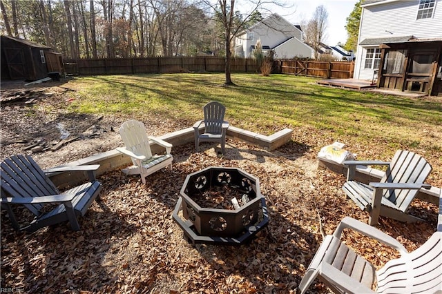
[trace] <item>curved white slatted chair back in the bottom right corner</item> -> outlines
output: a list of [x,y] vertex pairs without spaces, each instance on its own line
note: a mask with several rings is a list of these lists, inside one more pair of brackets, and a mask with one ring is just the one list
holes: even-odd
[[421,247],[390,260],[377,272],[378,293],[437,293],[442,289],[442,232]]

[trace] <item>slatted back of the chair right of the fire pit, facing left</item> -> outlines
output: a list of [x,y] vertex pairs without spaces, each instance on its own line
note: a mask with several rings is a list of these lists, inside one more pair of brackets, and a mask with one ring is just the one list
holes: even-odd
[[[381,183],[423,184],[432,166],[421,155],[406,150],[398,150],[387,168]],[[383,197],[405,211],[419,190],[385,190]]]

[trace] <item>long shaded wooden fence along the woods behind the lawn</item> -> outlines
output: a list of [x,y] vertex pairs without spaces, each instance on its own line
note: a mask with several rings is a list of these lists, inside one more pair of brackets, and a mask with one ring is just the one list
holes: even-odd
[[[119,75],[165,72],[224,72],[224,57],[148,57],[64,59],[71,75]],[[231,59],[232,72],[257,72],[254,59]]]

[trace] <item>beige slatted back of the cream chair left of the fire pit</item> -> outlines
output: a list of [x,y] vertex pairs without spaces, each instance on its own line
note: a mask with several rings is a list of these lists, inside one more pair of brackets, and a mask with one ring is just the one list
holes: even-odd
[[[144,155],[146,159],[152,157],[151,145],[146,133],[146,127],[141,121],[133,119],[125,121],[119,128],[119,135],[124,141],[124,145],[137,155]],[[135,161],[132,159],[133,164]]]

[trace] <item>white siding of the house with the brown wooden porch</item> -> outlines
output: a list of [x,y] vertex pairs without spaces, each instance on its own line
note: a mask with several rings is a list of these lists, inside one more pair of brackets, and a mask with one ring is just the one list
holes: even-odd
[[[442,0],[437,0],[433,17],[416,19],[419,0],[390,1],[363,6],[358,43],[365,39],[382,37],[414,36],[418,39],[442,37]],[[372,79],[374,70],[365,70],[367,48],[377,48],[379,44],[358,46],[354,70],[355,79]]]

